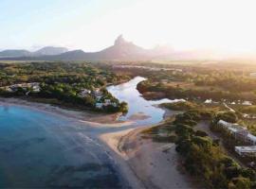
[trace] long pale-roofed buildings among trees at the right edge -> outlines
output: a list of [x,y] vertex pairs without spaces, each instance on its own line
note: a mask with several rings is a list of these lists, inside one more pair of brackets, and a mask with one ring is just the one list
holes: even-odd
[[223,120],[219,120],[217,125],[229,131],[235,138],[247,144],[248,146],[235,146],[235,151],[241,156],[255,156],[256,155],[256,136],[251,134],[247,128],[232,124]]

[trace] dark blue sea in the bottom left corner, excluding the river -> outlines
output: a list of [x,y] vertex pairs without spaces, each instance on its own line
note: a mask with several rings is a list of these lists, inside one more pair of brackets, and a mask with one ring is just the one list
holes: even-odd
[[0,187],[119,187],[89,129],[45,112],[0,106]]

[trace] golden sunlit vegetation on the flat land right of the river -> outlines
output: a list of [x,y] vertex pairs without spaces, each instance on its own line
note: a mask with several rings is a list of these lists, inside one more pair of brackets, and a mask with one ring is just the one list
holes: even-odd
[[[215,101],[249,100],[256,102],[256,79],[250,71],[217,69],[200,66],[173,66],[172,70],[133,70],[140,76],[148,77],[137,86],[140,93],[162,93],[169,98],[188,98],[192,100],[212,99]],[[255,69],[255,68],[254,68]],[[127,72],[132,72],[131,68]],[[157,96],[157,95],[155,95]],[[152,97],[152,95],[151,95]]]

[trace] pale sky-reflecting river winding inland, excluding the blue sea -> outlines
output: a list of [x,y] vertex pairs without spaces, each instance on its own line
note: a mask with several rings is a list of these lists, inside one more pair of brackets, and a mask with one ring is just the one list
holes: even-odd
[[[137,119],[136,125],[153,125],[159,123],[163,119],[164,110],[157,108],[155,105],[166,103],[166,102],[175,102],[182,99],[161,99],[161,100],[146,100],[141,94],[137,91],[137,83],[146,80],[144,77],[135,77],[130,81],[117,85],[108,87],[108,91],[117,97],[120,101],[125,101],[128,103],[129,111],[121,116],[120,120],[130,120],[131,116],[137,114],[143,114],[144,119]],[[133,119],[134,120],[134,119]]]

